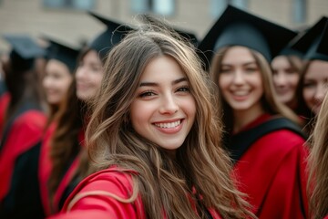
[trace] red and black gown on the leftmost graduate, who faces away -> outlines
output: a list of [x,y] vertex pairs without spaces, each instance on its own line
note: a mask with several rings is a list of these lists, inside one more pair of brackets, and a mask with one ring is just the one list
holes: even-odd
[[[46,124],[46,115],[39,110],[26,110],[11,124],[0,151],[1,215],[24,214],[40,204],[37,183],[37,157]],[[27,187],[27,188],[26,188]],[[35,217],[36,218],[36,217]]]

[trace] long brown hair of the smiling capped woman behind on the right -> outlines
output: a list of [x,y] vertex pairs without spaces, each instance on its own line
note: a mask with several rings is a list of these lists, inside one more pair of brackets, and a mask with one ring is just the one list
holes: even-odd
[[[215,57],[211,62],[210,75],[217,88],[220,88],[219,77],[221,72],[222,59],[231,47],[233,46],[220,48],[220,50],[216,53]],[[258,68],[260,68],[261,72],[261,79],[264,90],[263,95],[261,97],[261,105],[263,110],[272,115],[282,115],[283,117],[288,118],[301,126],[301,120],[298,118],[298,116],[276,98],[272,82],[272,69],[269,62],[261,55],[261,53],[252,50],[251,48],[249,48],[249,50],[251,52],[251,56],[254,57],[255,62]],[[230,132],[233,126],[231,106],[229,106],[227,101],[223,99],[220,95],[218,97],[224,114],[224,117],[222,119],[223,123],[226,127],[226,130]]]

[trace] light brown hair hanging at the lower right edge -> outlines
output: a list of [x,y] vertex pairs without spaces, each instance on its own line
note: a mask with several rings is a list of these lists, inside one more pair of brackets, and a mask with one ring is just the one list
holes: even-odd
[[323,100],[313,133],[309,155],[308,193],[311,218],[321,219],[328,215],[328,95]]

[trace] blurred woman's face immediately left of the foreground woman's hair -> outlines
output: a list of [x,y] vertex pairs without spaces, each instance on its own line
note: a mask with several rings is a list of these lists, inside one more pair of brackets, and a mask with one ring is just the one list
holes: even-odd
[[95,50],[90,50],[82,58],[77,68],[77,98],[88,100],[95,97],[103,78],[102,63]]

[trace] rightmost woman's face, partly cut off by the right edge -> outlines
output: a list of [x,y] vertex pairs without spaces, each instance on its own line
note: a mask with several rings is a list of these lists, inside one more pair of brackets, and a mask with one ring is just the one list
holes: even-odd
[[328,91],[328,62],[313,60],[304,75],[302,95],[307,107],[318,114]]

